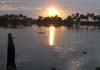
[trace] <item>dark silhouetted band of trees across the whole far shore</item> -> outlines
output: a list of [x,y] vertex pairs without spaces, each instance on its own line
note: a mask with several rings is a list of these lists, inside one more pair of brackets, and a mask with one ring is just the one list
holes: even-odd
[[80,14],[75,13],[69,15],[65,19],[62,19],[59,16],[54,17],[42,17],[39,16],[37,19],[33,19],[27,17],[22,14],[5,14],[0,16],[0,26],[1,27],[16,27],[19,25],[23,26],[31,26],[31,25],[38,25],[38,26],[67,26],[79,28],[79,26],[96,26],[100,29],[100,15],[95,15],[94,13],[87,13],[87,14]]

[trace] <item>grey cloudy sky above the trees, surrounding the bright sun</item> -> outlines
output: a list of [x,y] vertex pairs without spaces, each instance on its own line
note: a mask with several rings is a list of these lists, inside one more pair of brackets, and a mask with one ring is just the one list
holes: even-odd
[[32,18],[47,16],[47,8],[55,7],[62,18],[72,13],[100,13],[100,0],[0,0],[0,14],[25,14]]

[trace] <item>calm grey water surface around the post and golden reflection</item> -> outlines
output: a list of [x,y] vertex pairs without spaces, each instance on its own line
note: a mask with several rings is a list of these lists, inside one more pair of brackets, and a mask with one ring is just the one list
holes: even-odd
[[56,28],[51,46],[50,28],[32,26],[0,28],[0,70],[6,70],[9,32],[14,37],[17,70],[51,70],[52,67],[57,70],[95,70],[100,66],[99,30]]

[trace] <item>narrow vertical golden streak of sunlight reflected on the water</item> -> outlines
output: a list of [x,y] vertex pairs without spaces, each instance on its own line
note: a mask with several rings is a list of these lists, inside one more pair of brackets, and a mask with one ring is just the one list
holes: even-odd
[[50,26],[50,28],[49,28],[49,45],[50,46],[54,46],[55,30],[56,30],[56,28],[54,26]]

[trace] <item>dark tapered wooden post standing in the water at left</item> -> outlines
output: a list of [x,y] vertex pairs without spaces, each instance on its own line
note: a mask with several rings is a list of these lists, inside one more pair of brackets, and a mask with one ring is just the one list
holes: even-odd
[[11,33],[8,33],[7,70],[16,70],[15,46],[14,46],[14,43],[13,43]]

